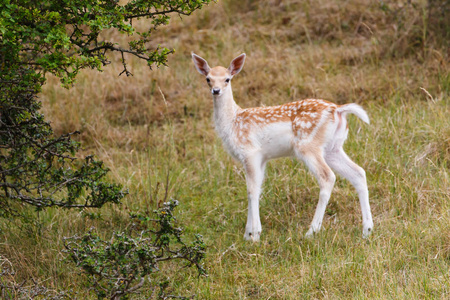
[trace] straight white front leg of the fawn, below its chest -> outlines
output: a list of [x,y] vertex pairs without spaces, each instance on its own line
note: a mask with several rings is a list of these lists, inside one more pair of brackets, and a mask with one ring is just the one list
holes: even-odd
[[244,163],[247,181],[248,215],[244,238],[259,241],[261,220],[259,218],[259,197],[264,180],[265,161],[260,155],[253,155]]

